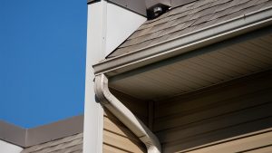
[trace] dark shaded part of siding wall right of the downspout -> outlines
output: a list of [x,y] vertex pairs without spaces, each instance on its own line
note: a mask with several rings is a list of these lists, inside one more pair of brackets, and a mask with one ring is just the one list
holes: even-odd
[[262,72],[160,100],[154,106],[153,130],[163,152],[170,153],[268,129],[271,95],[272,72]]

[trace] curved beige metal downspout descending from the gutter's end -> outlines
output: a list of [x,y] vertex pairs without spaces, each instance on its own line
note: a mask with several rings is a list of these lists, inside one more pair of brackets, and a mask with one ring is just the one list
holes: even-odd
[[159,139],[109,90],[104,74],[95,76],[94,91],[102,106],[107,108],[145,144],[148,153],[161,153]]

